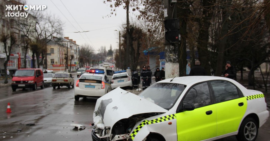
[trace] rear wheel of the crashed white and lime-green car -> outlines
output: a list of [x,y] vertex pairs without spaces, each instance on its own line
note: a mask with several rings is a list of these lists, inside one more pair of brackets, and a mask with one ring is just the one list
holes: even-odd
[[251,117],[244,119],[244,121],[241,123],[238,134],[236,135],[236,139],[238,141],[255,141],[257,136],[257,122]]

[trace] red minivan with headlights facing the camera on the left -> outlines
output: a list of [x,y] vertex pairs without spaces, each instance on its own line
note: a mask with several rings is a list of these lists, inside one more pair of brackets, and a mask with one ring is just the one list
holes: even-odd
[[16,91],[17,88],[32,88],[36,90],[38,87],[43,89],[43,72],[40,68],[22,68],[16,70],[11,88]]

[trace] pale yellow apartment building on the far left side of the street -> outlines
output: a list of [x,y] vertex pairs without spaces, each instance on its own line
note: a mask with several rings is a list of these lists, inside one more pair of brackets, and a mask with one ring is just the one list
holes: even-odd
[[[71,72],[76,71],[79,64],[79,45],[76,44],[76,41],[69,39],[69,37],[54,38],[54,40],[47,44],[48,70],[53,70],[54,72],[64,71],[66,67],[66,53],[68,55],[68,70],[70,69],[71,61]],[[74,56],[72,60],[70,60],[71,55]]]

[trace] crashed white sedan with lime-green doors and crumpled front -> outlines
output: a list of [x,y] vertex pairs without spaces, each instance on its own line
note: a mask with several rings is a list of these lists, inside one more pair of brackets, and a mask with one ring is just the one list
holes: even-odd
[[92,139],[189,141],[236,135],[254,141],[268,116],[260,91],[224,77],[177,77],[140,95],[116,88],[99,98]]

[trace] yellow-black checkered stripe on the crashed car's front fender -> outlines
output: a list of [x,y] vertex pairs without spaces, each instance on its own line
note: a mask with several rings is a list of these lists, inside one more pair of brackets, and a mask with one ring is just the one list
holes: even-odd
[[132,140],[134,140],[135,136],[143,128],[144,125],[150,125],[150,124],[154,124],[154,123],[165,122],[165,121],[172,120],[172,119],[176,119],[176,116],[174,114],[168,115],[168,116],[163,116],[163,117],[160,117],[158,119],[153,119],[153,120],[150,120],[150,121],[144,120],[137,128],[134,129],[134,131],[130,134],[129,137]]

